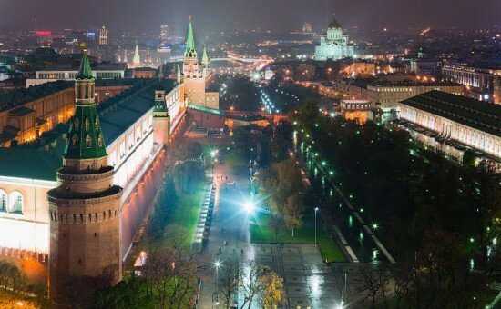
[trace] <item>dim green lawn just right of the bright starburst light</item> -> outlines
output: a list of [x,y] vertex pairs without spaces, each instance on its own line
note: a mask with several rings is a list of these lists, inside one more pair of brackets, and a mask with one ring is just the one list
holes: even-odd
[[[317,218],[318,219],[318,218]],[[275,239],[275,233],[268,227],[268,214],[261,214],[258,217],[259,224],[251,225],[251,240],[256,244],[285,243],[285,244],[314,244],[315,243],[315,218],[313,215],[304,216],[302,228],[294,231],[294,237],[291,231],[285,226],[281,228],[278,238]],[[317,222],[317,243],[324,259],[331,262],[346,262],[344,254],[338,244],[325,234],[320,220]]]

